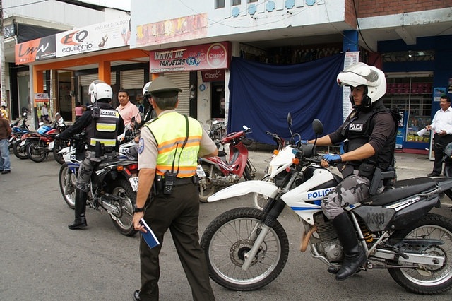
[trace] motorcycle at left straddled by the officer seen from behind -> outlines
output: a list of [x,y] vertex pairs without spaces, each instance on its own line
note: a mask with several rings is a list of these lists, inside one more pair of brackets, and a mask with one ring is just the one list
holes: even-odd
[[[76,145],[83,134],[74,135],[69,141]],[[138,161],[129,160],[124,154],[124,146],[120,148],[121,158],[102,161],[90,178],[90,191],[87,205],[97,211],[107,211],[117,230],[126,236],[133,236],[133,206],[136,204],[138,191]],[[132,144],[129,143],[129,146]],[[66,204],[76,207],[76,180],[81,160],[76,158],[76,149],[68,146],[70,151],[64,153],[64,164],[59,170],[59,187]],[[63,152],[64,150],[61,150]]]

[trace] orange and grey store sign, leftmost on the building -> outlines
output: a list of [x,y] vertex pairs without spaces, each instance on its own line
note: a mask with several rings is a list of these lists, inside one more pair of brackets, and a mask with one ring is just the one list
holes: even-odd
[[57,57],[55,35],[16,44],[16,65]]

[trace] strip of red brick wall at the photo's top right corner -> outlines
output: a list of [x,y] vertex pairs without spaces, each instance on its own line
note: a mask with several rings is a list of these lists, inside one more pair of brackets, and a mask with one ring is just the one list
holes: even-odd
[[452,0],[355,0],[355,3],[359,18],[429,11],[452,6]]

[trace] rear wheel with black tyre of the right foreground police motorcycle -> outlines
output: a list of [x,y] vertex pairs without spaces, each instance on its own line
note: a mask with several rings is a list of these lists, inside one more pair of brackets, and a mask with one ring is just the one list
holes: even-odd
[[[440,267],[422,265],[419,268],[392,268],[391,277],[398,285],[412,293],[433,295],[452,288],[452,221],[437,214],[427,214],[407,230],[399,230],[391,237],[410,240],[440,240],[443,244],[427,247],[422,254],[444,257]],[[397,262],[388,261],[390,264]]]

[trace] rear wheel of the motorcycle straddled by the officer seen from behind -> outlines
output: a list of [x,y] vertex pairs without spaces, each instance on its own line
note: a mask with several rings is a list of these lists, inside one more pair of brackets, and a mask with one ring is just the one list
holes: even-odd
[[115,213],[110,213],[114,227],[126,236],[133,236],[138,232],[133,228],[133,204],[136,203],[136,192],[133,191],[129,182],[120,179],[113,185],[112,194],[118,199],[113,205],[118,208]]

